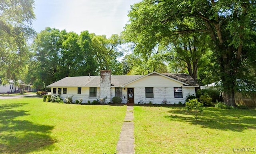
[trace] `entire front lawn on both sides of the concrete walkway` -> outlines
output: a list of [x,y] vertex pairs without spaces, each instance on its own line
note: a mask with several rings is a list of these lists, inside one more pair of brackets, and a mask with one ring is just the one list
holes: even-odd
[[[115,153],[125,106],[0,100],[0,153]],[[134,106],[135,152],[234,153],[256,148],[256,109]],[[250,153],[255,153],[250,152]]]

